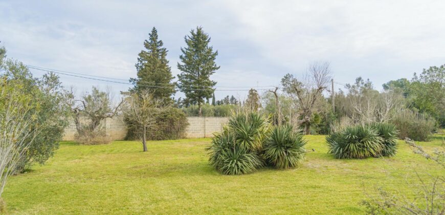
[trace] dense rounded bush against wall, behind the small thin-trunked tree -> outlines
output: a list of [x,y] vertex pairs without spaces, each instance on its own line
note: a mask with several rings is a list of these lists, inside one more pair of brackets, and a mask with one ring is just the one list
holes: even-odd
[[[129,119],[124,118],[127,124],[127,134],[125,140],[138,139],[137,130]],[[157,126],[151,126],[147,131],[147,140],[172,140],[185,137],[185,130],[188,126],[187,116],[180,109],[170,107],[163,111],[156,119]]]

